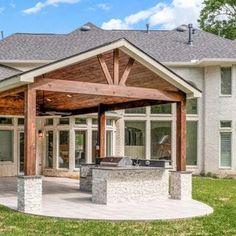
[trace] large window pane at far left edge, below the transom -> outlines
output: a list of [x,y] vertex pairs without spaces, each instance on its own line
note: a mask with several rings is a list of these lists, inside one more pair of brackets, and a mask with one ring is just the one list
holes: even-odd
[[13,161],[13,131],[0,130],[0,161]]

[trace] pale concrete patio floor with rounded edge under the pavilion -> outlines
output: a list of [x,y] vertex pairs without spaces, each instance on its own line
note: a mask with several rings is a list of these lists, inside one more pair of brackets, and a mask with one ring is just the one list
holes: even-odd
[[[191,200],[154,200],[99,205],[79,191],[79,180],[43,177],[42,211],[38,215],[96,220],[165,220],[208,215],[213,209]],[[17,209],[16,178],[0,178],[0,204]]]

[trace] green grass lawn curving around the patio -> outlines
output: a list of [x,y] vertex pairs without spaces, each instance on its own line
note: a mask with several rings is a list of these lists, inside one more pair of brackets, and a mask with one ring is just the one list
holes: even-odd
[[193,179],[193,197],[210,216],[178,221],[73,221],[34,217],[0,206],[0,235],[236,235],[236,180]]

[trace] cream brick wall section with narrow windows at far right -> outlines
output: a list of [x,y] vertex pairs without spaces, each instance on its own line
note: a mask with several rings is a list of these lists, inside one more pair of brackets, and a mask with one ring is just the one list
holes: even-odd
[[[206,67],[204,73],[205,172],[236,174],[236,66],[232,67],[232,96],[220,95],[220,66]],[[220,120],[232,120],[232,168],[220,167]]]

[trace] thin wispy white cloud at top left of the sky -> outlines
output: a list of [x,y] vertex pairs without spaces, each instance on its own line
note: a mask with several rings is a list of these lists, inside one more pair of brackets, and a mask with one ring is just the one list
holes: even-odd
[[35,14],[39,11],[41,11],[43,8],[47,6],[54,6],[57,7],[61,3],[68,3],[68,4],[74,4],[79,2],[80,0],[47,0],[45,2],[38,2],[35,6],[23,10],[23,13],[25,14]]

